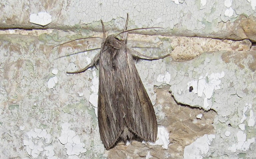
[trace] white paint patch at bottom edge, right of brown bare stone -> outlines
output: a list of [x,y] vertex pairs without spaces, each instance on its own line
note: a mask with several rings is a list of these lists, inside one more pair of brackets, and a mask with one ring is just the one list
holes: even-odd
[[196,141],[184,148],[184,159],[202,159],[202,155],[206,155],[208,153],[209,145],[211,145],[214,138],[215,135],[213,134],[205,134],[204,136],[196,139]]

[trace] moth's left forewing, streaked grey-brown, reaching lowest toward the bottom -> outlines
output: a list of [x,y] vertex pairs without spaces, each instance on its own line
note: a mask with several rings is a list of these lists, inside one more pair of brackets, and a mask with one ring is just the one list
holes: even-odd
[[117,88],[114,79],[116,75],[102,62],[100,61],[99,66],[98,123],[102,143],[108,150],[121,135],[124,124],[116,95]]

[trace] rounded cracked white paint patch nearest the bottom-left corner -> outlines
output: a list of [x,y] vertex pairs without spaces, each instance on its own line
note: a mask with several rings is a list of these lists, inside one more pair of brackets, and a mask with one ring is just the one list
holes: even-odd
[[23,144],[26,146],[28,155],[33,158],[54,157],[54,147],[52,146],[52,136],[45,129],[35,128],[24,135]]

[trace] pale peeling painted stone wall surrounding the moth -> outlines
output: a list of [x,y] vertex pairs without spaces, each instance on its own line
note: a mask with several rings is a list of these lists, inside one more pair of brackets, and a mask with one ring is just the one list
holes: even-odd
[[[2,1],[0,158],[253,158],[254,3]],[[128,34],[127,44],[149,56],[171,53],[135,61],[166,130],[158,134],[169,135],[167,145],[118,142],[107,151],[99,137],[98,70],[65,73],[90,63],[102,40],[52,47],[102,37],[101,19],[109,34],[119,33],[126,13],[128,29],[164,28]]]

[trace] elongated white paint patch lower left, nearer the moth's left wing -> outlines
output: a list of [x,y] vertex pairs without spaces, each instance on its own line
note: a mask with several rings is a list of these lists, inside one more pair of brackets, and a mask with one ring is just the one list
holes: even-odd
[[80,137],[76,135],[75,131],[69,129],[67,122],[61,126],[61,136],[58,138],[60,143],[65,145],[66,153],[69,158],[77,158],[80,153],[86,152],[85,144],[81,142]]

